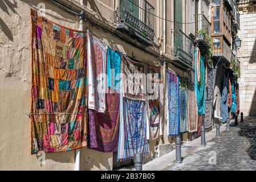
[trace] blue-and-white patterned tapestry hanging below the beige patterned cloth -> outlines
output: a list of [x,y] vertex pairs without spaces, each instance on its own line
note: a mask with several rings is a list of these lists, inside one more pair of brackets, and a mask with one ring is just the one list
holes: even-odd
[[123,141],[119,141],[119,159],[132,158],[136,152],[148,154],[145,101],[123,98]]

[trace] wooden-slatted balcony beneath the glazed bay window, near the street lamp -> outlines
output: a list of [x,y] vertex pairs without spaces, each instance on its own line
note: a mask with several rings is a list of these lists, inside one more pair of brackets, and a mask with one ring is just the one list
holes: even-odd
[[220,60],[223,63],[230,63],[231,48],[226,43],[224,36],[213,37],[213,60]]

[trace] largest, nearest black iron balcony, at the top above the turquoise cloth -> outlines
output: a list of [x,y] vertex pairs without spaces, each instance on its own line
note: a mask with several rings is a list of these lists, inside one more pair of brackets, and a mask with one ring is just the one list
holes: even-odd
[[127,32],[148,46],[153,46],[153,14],[154,7],[145,0],[119,0],[119,6],[114,13],[114,23],[116,29]]

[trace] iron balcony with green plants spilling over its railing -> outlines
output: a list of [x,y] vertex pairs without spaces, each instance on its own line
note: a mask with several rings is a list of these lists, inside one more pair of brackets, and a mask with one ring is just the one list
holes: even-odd
[[204,14],[195,15],[195,22],[198,22],[196,26],[196,43],[198,43],[200,51],[204,52],[211,47],[208,40],[211,36],[211,23]]

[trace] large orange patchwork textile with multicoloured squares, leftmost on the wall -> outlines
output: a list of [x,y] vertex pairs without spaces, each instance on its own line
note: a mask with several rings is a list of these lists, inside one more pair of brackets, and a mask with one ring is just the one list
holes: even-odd
[[87,146],[86,32],[31,19],[31,154]]

